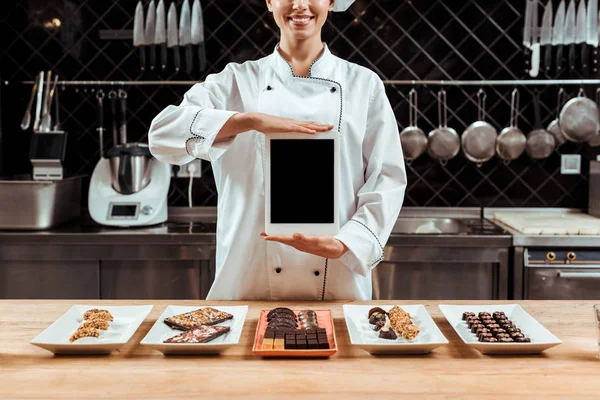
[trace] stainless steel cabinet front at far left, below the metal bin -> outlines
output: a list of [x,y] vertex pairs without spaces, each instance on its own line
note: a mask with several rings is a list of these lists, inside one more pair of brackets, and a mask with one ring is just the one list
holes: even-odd
[[98,299],[98,262],[0,261],[2,299]]

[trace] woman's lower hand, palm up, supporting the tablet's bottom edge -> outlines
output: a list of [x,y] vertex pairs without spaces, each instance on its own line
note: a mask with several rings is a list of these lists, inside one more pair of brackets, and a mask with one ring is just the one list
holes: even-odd
[[267,241],[283,243],[296,250],[332,260],[340,258],[348,251],[346,245],[333,236],[306,236],[301,233],[294,233],[292,236],[267,236],[264,232],[260,235]]

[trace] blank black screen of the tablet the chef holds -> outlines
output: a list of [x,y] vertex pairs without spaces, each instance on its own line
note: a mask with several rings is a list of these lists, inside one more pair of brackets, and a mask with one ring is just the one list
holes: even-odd
[[271,140],[271,223],[334,223],[332,139]]

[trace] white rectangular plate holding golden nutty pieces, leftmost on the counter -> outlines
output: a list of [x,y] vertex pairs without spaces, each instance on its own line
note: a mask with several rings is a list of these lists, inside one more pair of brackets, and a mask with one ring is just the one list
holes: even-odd
[[[152,305],[146,306],[86,306],[74,305],[29,343],[54,354],[109,354],[121,348],[146,319]],[[114,317],[100,336],[69,342],[71,335],[83,321],[83,314],[92,308],[107,310]]]

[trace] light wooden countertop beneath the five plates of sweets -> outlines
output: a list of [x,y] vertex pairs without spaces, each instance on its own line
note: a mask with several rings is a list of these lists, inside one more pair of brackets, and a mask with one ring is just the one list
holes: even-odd
[[[345,302],[348,303],[348,302]],[[257,398],[335,399],[422,397],[599,398],[600,360],[589,301],[518,302],[563,344],[541,355],[484,356],[471,350],[441,315],[425,304],[449,345],[429,355],[371,356],[349,344],[342,304],[198,301],[0,301],[0,398]],[[497,302],[506,304],[507,302]],[[72,304],[154,304],[129,343],[110,356],[54,356],[29,344]],[[168,356],[139,346],[169,304],[248,304],[240,344],[222,356]],[[375,304],[375,302],[356,302]],[[259,310],[275,306],[333,311],[339,351],[329,359],[262,359],[252,354]]]

